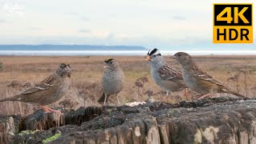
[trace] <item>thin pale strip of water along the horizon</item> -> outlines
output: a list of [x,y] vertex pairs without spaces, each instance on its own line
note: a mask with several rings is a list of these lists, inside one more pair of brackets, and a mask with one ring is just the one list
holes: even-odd
[[[173,55],[182,50],[161,50]],[[184,50],[192,55],[256,55],[256,50]],[[147,50],[0,50],[0,55],[146,55]]]

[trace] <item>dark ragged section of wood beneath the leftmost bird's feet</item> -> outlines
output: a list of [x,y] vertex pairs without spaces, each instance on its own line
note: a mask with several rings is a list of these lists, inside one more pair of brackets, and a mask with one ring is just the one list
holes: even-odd
[[44,114],[42,110],[37,110],[34,114],[22,118],[19,130],[49,130],[52,127],[67,124],[80,126],[82,122],[90,121],[101,113],[102,108],[99,107],[80,108],[64,115],[56,113]]

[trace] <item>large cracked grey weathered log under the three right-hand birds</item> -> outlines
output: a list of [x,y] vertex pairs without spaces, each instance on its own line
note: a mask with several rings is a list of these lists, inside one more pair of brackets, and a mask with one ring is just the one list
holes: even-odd
[[72,125],[15,135],[14,142],[41,143],[60,134],[50,143],[256,143],[255,99],[90,107],[65,117]]

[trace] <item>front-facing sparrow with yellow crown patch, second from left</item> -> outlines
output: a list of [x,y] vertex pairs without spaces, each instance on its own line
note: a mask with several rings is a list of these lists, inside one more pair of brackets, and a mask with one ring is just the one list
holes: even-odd
[[[104,62],[104,71],[102,75],[102,97],[98,99],[99,103],[106,104],[110,95],[114,94],[118,99],[118,93],[122,90],[124,74],[118,62],[114,58],[108,58]],[[118,104],[120,104],[118,99]]]

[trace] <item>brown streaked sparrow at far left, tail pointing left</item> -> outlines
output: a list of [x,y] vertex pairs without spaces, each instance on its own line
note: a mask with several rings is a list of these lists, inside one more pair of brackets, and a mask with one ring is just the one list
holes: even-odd
[[4,98],[0,102],[19,101],[37,104],[45,113],[62,114],[59,110],[53,110],[46,105],[54,103],[62,98],[70,86],[71,69],[69,64],[62,63],[58,69],[42,82],[24,90],[21,94],[11,98]]

